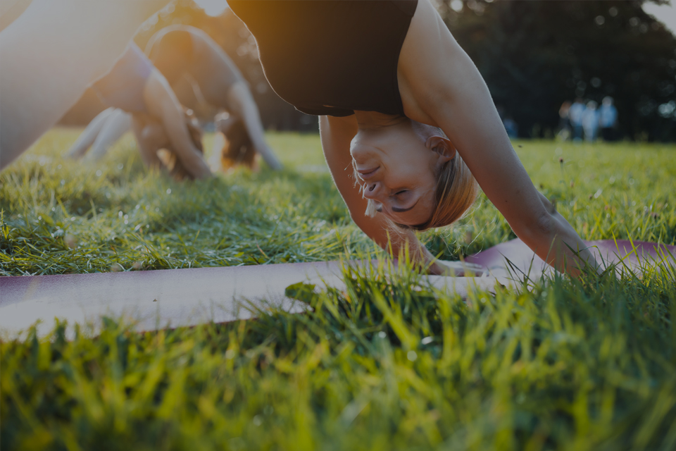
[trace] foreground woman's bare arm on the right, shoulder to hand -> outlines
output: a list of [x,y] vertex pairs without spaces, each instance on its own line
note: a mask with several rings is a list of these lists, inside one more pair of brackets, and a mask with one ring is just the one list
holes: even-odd
[[426,0],[418,4],[401,49],[399,83],[407,116],[444,130],[484,193],[538,257],[572,276],[586,263],[597,266],[580,236],[533,186],[479,71]]

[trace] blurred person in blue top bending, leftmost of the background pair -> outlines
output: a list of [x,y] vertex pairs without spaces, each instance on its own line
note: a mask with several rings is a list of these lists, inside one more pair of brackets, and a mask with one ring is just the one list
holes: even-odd
[[[112,109],[94,118],[68,151],[69,156],[83,156],[93,143],[92,159],[100,159],[131,122],[146,166],[167,166],[179,178],[211,175],[201,143],[195,140],[200,133],[191,130],[197,126],[192,112],[184,111],[167,80],[136,44],[131,43],[92,88]],[[125,113],[131,115],[131,121]],[[159,149],[170,154],[158,153]]]

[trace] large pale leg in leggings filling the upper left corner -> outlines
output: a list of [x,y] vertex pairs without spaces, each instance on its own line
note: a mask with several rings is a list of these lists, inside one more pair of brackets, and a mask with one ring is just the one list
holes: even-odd
[[56,124],[168,2],[2,1],[0,169]]

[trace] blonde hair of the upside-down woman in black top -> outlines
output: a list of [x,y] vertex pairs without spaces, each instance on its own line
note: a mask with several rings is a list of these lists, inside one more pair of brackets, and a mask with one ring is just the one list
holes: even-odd
[[[460,154],[446,161],[436,174],[437,187],[434,190],[434,210],[427,222],[417,226],[406,226],[392,222],[392,226],[402,230],[427,230],[429,228],[449,226],[462,218],[474,204],[479,185],[463,161]],[[367,216],[375,216],[375,205],[368,201]]]

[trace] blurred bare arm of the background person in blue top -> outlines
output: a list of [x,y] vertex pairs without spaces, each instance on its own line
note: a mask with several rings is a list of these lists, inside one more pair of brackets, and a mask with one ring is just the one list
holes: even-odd
[[164,126],[176,156],[194,178],[211,175],[204,156],[192,144],[185,124],[183,107],[164,76],[154,69],[146,81],[144,101],[151,116],[159,118]]

